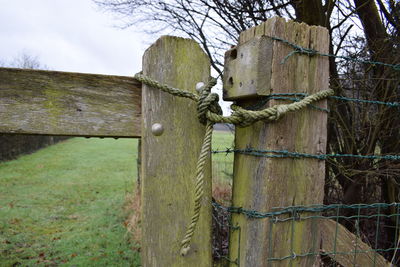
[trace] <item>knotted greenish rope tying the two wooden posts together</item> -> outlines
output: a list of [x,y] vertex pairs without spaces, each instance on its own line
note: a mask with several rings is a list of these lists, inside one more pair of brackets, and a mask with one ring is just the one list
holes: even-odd
[[161,84],[142,73],[135,75],[135,79],[150,87],[160,89],[174,96],[189,98],[197,102],[197,113],[199,121],[206,125],[203,145],[197,161],[196,168],[196,185],[193,215],[190,224],[186,230],[185,237],[181,242],[181,255],[185,256],[190,250],[190,242],[196,230],[197,222],[200,217],[201,199],[204,194],[204,171],[208,155],[211,151],[213,125],[217,122],[232,123],[241,127],[249,126],[257,121],[276,121],[284,114],[305,108],[313,102],[327,98],[333,95],[333,90],[324,90],[313,95],[306,96],[298,102],[287,105],[275,105],[263,110],[246,110],[237,105],[232,105],[233,113],[231,116],[223,116],[221,107],[218,104],[218,94],[211,93],[211,88],[217,83],[216,79],[211,78],[207,85],[203,86],[199,95],[191,92],[177,89],[165,84]]

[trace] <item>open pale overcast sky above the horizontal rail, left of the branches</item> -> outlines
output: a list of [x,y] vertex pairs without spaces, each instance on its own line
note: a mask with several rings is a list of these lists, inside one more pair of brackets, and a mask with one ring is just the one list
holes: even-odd
[[0,0],[0,60],[26,53],[52,70],[133,75],[150,41],[117,23],[91,0]]

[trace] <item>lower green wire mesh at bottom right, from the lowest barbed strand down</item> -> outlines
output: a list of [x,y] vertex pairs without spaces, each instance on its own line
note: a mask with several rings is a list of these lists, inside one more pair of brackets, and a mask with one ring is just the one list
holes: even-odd
[[[317,257],[321,263],[325,264],[323,266],[387,266],[389,262],[387,259],[390,259],[393,266],[399,263],[397,251],[399,250],[400,203],[292,206],[275,208],[270,212],[226,207],[216,202],[213,206],[216,210],[240,214],[248,219],[268,220],[269,257],[265,260],[271,264],[302,257]],[[318,224],[322,228],[322,247],[314,245],[309,250],[303,250],[301,246],[296,248],[294,244],[298,244],[298,241],[296,242],[295,238],[299,236],[297,231],[303,229],[305,222],[310,222],[311,225]],[[393,222],[395,222],[395,227],[389,229],[392,235],[380,236],[380,233],[387,232],[384,228],[390,227]],[[276,230],[278,227],[288,229],[286,231],[289,233],[288,245],[285,253],[274,251],[274,244],[277,240],[281,240],[281,236],[275,237],[273,234],[273,229]],[[361,230],[362,228],[370,228],[375,235],[368,235]],[[240,227],[229,225],[229,229],[239,231]],[[226,254],[219,256],[238,264],[237,259],[229,259]]]

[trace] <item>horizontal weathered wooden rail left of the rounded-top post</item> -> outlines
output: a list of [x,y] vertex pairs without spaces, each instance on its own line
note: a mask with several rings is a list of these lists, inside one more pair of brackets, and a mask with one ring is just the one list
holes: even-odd
[[0,133],[140,137],[133,77],[0,68]]

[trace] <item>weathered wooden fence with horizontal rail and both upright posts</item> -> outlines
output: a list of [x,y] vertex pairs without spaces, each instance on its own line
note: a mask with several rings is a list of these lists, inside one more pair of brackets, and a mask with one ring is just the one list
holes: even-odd
[[[271,38],[326,53],[328,36],[325,28],[281,18],[243,32],[238,46],[225,55],[224,98],[251,108],[271,94],[314,94],[328,89],[326,57],[296,53],[282,64],[292,48]],[[196,84],[209,79],[210,62],[194,41],[161,37],[144,54],[143,74],[196,94]],[[210,160],[191,249],[185,256],[180,254],[192,216],[196,164],[205,132],[195,102],[142,85],[132,77],[11,68],[0,69],[0,96],[0,133],[142,138],[142,264],[222,264],[212,259]],[[283,103],[275,99],[262,103],[261,108]],[[274,123],[236,127],[235,148],[324,154],[327,114],[321,109],[327,102],[314,105],[317,108],[289,113]],[[263,212],[276,206],[321,204],[324,177],[321,159],[235,154],[232,204]],[[293,241],[290,223],[271,227],[266,221],[233,214],[232,225],[240,227],[230,237],[228,264],[232,266],[314,266],[316,254],[330,245],[321,240],[327,240],[333,229],[330,221],[298,222],[293,226]],[[344,248],[354,239],[344,229],[336,234],[342,241],[337,246]],[[267,261],[287,254],[289,248],[314,253],[272,265]],[[382,257],[379,260],[386,264]],[[339,262],[347,266],[345,256]],[[367,264],[363,266],[369,263],[367,259],[360,262]]]

